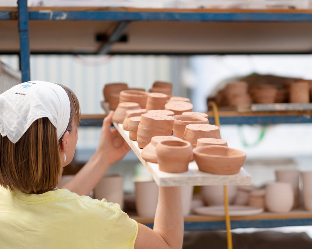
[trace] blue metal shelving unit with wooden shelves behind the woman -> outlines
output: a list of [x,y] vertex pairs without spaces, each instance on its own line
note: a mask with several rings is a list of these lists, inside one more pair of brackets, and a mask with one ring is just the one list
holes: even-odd
[[[2,54],[310,54],[312,10],[0,8]],[[60,44],[62,46],[60,47]],[[209,114],[209,113],[208,113]],[[84,126],[104,116],[84,115]],[[209,121],[214,123],[213,115]],[[310,111],[220,113],[221,124],[310,123]],[[153,220],[138,221],[152,226]],[[232,228],[312,225],[308,212],[234,217]],[[225,229],[224,217],[190,216],[185,230]]]

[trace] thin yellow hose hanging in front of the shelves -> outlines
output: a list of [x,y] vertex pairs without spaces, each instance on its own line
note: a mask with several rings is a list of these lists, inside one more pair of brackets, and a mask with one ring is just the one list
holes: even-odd
[[[213,115],[215,118],[215,123],[220,129],[219,112],[218,112],[218,107],[217,107],[216,102],[209,101],[207,106],[208,108],[209,106],[212,107]],[[229,215],[229,200],[227,198],[227,186],[226,185],[223,186],[223,195],[224,195],[225,223],[226,223],[226,228],[227,228],[227,249],[232,249],[233,243],[232,243],[232,234],[231,234],[231,220],[230,220],[230,215]]]

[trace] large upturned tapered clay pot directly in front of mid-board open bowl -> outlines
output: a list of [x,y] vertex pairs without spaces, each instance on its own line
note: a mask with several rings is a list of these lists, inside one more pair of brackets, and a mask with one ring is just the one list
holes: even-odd
[[208,124],[190,124],[185,126],[183,140],[189,141],[193,148],[196,148],[199,138],[217,138],[221,139],[220,129],[216,125]]

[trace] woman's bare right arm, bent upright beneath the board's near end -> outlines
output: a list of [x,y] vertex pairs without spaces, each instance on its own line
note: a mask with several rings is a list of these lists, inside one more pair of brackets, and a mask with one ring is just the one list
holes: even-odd
[[154,229],[139,224],[134,249],[181,249],[183,231],[181,187],[159,187]]

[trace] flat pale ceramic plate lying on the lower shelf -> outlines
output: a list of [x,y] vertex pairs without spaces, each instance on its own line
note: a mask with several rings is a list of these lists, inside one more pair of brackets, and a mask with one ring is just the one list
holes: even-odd
[[[205,206],[198,207],[193,210],[195,214],[201,215],[212,215],[212,216],[225,216],[224,206]],[[244,215],[253,215],[260,214],[263,212],[263,208],[252,207],[252,206],[229,206],[229,215],[230,216],[244,216]]]

